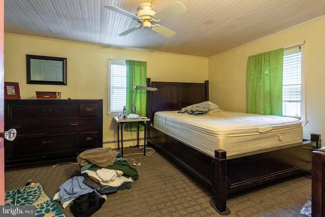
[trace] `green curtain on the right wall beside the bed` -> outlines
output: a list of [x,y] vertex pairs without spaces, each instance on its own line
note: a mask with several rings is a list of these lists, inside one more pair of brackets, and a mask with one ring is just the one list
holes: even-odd
[[248,57],[247,112],[282,116],[283,48]]

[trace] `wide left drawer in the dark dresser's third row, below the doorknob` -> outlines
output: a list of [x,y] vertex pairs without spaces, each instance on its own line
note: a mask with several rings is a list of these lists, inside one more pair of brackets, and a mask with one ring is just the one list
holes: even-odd
[[76,149],[78,147],[78,134],[17,137],[10,145],[14,147],[12,149],[13,156]]

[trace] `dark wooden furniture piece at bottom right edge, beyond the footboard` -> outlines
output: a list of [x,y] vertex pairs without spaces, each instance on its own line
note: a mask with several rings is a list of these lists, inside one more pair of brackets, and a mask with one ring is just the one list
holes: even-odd
[[313,151],[311,216],[325,216],[325,152]]

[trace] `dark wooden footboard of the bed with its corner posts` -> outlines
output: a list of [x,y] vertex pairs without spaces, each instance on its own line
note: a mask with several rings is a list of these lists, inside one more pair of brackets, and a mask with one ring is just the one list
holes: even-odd
[[[226,159],[226,152],[215,151],[215,199],[212,207],[221,215],[227,215],[226,196],[253,186],[287,177],[304,171],[311,171],[312,149],[318,148],[318,141],[303,141],[266,152],[251,152],[245,156]],[[219,171],[220,170],[220,171]]]

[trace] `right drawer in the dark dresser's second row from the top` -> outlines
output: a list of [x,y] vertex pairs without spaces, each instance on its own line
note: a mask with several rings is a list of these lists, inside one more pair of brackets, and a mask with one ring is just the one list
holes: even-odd
[[61,118],[48,120],[49,133],[98,131],[98,117]]

